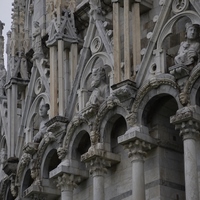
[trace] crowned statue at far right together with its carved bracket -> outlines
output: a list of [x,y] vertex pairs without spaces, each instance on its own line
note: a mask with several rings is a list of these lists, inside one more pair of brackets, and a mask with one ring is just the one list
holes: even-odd
[[186,23],[186,40],[181,42],[177,55],[174,58],[175,65],[169,68],[170,74],[176,79],[190,74],[190,71],[200,62],[200,34],[199,25]]

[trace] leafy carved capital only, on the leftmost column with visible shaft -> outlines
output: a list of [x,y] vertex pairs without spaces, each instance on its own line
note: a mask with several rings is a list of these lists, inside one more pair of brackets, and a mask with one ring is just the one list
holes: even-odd
[[81,181],[80,176],[73,174],[62,174],[57,178],[57,187],[62,191],[73,190],[77,187],[77,183]]

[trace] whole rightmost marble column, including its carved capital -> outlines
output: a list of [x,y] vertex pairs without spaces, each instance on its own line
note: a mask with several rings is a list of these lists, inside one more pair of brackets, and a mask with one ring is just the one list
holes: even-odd
[[175,124],[176,129],[180,129],[180,135],[183,137],[186,200],[198,200],[196,145],[200,135],[200,108],[197,106],[182,108],[171,117],[170,121]]

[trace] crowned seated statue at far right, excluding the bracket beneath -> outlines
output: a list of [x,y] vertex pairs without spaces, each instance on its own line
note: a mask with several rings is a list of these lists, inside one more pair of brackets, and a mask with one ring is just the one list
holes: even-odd
[[186,38],[175,57],[175,64],[194,67],[200,61],[199,25],[186,23]]

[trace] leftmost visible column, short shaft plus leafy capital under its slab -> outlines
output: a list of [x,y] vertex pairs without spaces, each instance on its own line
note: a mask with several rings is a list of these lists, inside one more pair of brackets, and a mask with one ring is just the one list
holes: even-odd
[[62,174],[57,178],[57,187],[61,190],[61,200],[73,200],[73,190],[77,186],[78,177],[73,174]]

